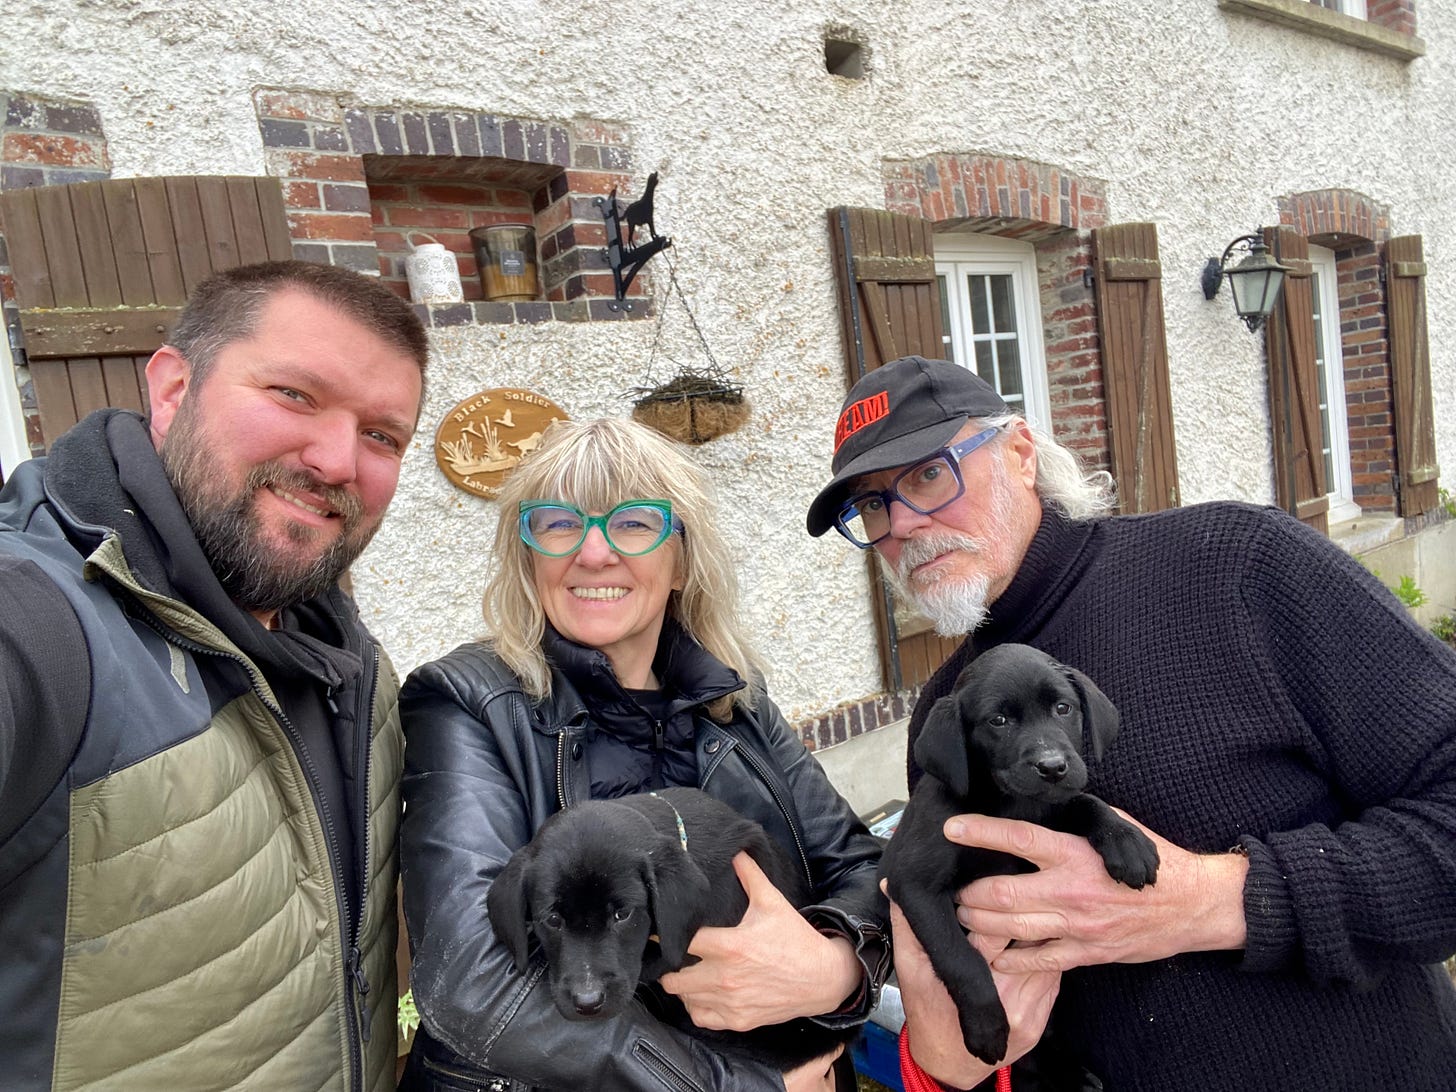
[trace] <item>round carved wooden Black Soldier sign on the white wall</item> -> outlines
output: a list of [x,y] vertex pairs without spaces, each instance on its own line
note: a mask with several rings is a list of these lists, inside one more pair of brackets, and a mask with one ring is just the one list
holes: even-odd
[[565,419],[561,406],[534,390],[482,390],[440,422],[435,462],[457,489],[495,496],[511,469],[540,446],[547,425]]

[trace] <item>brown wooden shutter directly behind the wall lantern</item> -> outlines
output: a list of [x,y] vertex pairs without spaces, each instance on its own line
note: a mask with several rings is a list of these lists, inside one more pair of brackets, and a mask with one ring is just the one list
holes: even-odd
[[1274,258],[1290,268],[1274,313],[1264,326],[1278,507],[1321,534],[1329,533],[1325,441],[1319,419],[1319,361],[1315,352],[1315,271],[1309,240],[1287,227],[1264,229]]

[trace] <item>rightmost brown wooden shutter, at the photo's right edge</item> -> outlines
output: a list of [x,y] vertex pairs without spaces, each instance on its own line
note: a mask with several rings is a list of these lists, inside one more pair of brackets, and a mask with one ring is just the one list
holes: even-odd
[[1440,504],[1436,464],[1436,412],[1431,355],[1425,335],[1425,258],[1421,236],[1392,239],[1385,248],[1386,307],[1390,316],[1390,387],[1395,400],[1395,459],[1401,515]]

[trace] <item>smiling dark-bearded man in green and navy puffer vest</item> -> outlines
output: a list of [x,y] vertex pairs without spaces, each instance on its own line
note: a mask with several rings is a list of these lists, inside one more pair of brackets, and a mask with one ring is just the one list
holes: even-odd
[[198,285],[0,492],[6,1088],[393,1088],[397,680],[338,581],[425,332],[377,281]]

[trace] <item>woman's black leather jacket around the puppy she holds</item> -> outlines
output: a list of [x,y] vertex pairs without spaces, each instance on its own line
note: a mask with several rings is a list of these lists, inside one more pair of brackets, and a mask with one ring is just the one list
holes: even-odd
[[[737,683],[692,648],[706,674],[716,668],[719,683]],[[713,1051],[641,1003],[614,1019],[568,1022],[540,958],[520,976],[496,942],[485,913],[491,881],[549,815],[590,789],[591,711],[566,676],[552,674],[552,696],[533,702],[485,645],[472,644],[416,670],[402,692],[400,871],[424,1021],[411,1072],[424,1069],[432,1088],[782,1091],[778,1073]],[[683,692],[680,678],[674,684]],[[804,860],[821,900],[805,914],[847,936],[865,965],[853,1010],[820,1019],[862,1022],[890,964],[878,843],[766,697],[725,725],[700,708],[693,716],[699,788],[763,823]]]

